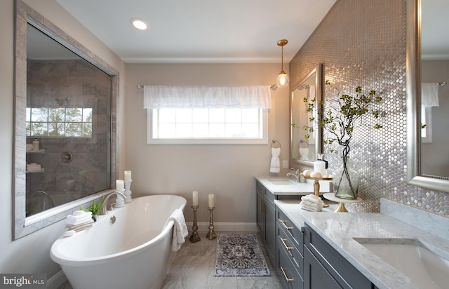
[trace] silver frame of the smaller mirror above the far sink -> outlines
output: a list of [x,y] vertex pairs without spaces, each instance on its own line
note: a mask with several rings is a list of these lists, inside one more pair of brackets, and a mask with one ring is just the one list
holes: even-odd
[[[292,102],[293,102],[293,91],[297,90],[297,88],[301,85],[301,83],[304,83],[309,77],[315,74],[315,107],[317,108],[315,110],[314,118],[319,122],[320,116],[318,114],[318,111],[322,109],[320,102],[323,99],[323,64],[319,63],[319,65],[316,65],[314,69],[309,72],[306,76],[304,76],[303,79],[299,81],[298,86],[295,87],[295,89],[292,90],[290,95],[290,166],[297,169],[296,166],[307,166],[307,167],[313,167],[314,161],[313,160],[302,160],[302,159],[293,159],[293,127],[291,126],[291,123],[293,123],[293,116],[292,116]],[[320,126],[316,125],[314,130],[314,136],[315,136],[315,154],[322,154],[323,153],[323,139],[322,139],[322,129]],[[315,156],[316,158],[316,156]]]

